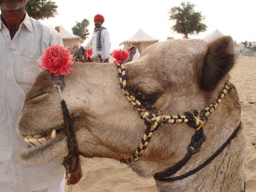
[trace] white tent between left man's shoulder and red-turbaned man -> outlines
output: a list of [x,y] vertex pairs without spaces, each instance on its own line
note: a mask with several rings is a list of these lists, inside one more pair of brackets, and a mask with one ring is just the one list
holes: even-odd
[[59,35],[62,39],[64,46],[68,47],[70,52],[72,52],[72,49],[74,48],[74,46],[80,47],[80,42],[81,42],[80,37],[70,33],[67,29],[65,29],[61,25],[60,25]]

